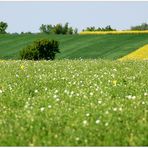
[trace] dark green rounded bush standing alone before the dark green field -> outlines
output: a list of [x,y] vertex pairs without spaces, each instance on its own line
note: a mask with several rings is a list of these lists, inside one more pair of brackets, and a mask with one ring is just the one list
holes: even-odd
[[26,60],[54,60],[56,53],[59,53],[59,42],[52,40],[35,41],[20,52],[21,59]]

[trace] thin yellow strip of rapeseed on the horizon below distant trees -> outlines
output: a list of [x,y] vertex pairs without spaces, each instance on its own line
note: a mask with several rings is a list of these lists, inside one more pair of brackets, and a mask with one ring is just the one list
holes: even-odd
[[81,35],[85,34],[148,34],[148,30],[126,30],[126,31],[84,31],[80,32]]

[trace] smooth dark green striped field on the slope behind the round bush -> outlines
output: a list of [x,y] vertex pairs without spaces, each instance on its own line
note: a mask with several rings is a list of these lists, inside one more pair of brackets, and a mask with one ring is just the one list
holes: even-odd
[[60,42],[58,59],[117,59],[148,44],[148,34],[126,35],[0,35],[0,58],[19,59],[19,51],[38,39]]

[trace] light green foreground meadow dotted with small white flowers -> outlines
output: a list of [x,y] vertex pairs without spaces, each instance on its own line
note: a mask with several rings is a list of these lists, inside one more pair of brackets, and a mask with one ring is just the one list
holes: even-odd
[[148,62],[0,61],[1,146],[148,145]]

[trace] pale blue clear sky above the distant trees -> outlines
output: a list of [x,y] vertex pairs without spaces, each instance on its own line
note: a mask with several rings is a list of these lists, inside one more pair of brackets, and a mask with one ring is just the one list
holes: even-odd
[[148,1],[0,1],[0,21],[7,32],[39,32],[41,24],[65,24],[82,29],[111,25],[118,30],[148,23]]

